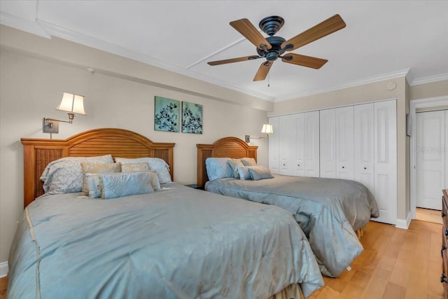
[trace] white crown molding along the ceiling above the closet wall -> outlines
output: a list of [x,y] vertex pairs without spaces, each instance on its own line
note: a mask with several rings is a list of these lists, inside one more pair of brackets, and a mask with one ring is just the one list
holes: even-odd
[[288,101],[290,99],[297,99],[299,97],[308,97],[310,95],[318,95],[321,93],[325,93],[325,92],[332,92],[335,90],[342,90],[345,88],[353,88],[355,86],[359,86],[359,85],[365,85],[365,84],[369,84],[369,83],[377,83],[380,81],[386,81],[386,80],[390,80],[393,78],[400,78],[400,77],[405,77],[407,76],[407,74],[409,74],[409,70],[410,69],[401,69],[400,71],[393,71],[391,73],[386,73],[386,74],[381,74],[379,76],[372,76],[372,77],[368,77],[368,78],[363,78],[360,80],[356,80],[356,81],[351,81],[349,83],[346,84],[342,84],[342,85],[335,85],[332,86],[330,88],[323,88],[321,90],[313,90],[310,92],[302,92],[300,94],[296,94],[296,95],[288,95],[288,96],[284,96],[284,97],[276,97],[275,98],[275,102],[283,102],[283,101]]

